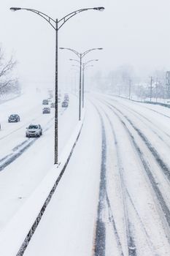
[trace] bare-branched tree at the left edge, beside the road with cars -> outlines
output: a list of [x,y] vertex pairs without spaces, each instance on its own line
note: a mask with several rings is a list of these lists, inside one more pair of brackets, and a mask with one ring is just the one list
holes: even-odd
[[20,84],[13,72],[16,65],[17,61],[13,56],[6,60],[4,51],[0,46],[0,99],[6,97],[7,94],[20,93]]

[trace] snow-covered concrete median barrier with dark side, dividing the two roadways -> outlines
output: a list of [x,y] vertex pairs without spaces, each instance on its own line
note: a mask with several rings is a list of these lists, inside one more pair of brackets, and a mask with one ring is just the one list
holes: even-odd
[[74,134],[59,156],[59,164],[54,165],[47,176],[43,179],[34,193],[28,197],[26,203],[10,220],[0,233],[0,255],[15,256],[23,255],[31,237],[42,219],[45,209],[50,202],[58,182],[63,176],[66,166],[77,144],[82,129],[82,121],[77,124]]

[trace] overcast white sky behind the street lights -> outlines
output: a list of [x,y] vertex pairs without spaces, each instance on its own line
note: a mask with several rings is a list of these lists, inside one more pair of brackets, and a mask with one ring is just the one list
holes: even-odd
[[[9,7],[33,8],[52,18],[69,12],[104,6],[104,12],[88,11],[74,16],[58,32],[60,47],[93,51],[88,59],[99,59],[93,72],[131,64],[137,71],[170,69],[169,0],[6,0],[0,4],[0,42],[7,54],[15,53],[23,83],[52,83],[55,69],[55,31],[38,15],[10,12]],[[74,58],[59,53],[59,78],[71,71]]]

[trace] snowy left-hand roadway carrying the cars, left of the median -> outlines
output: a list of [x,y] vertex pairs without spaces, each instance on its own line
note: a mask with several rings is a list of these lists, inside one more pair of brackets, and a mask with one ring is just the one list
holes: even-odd
[[[44,94],[24,94],[0,105],[0,230],[34,192],[53,165],[54,109],[51,109],[50,114],[42,114],[42,99],[46,97]],[[63,96],[61,102],[62,99]],[[61,108],[61,104],[58,108],[59,135],[62,134],[58,143],[61,152],[77,124],[76,97],[70,99],[68,109]],[[9,124],[7,118],[11,113],[18,113],[20,122]],[[41,138],[26,138],[26,127],[31,123],[42,125]]]

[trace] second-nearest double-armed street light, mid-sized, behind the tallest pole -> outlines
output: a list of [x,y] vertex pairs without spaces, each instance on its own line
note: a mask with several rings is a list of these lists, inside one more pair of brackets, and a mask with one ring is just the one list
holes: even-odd
[[79,84],[79,121],[81,120],[81,101],[82,101],[82,58],[90,53],[92,50],[103,50],[103,48],[91,48],[88,50],[85,50],[83,53],[78,53],[77,50],[71,49],[71,48],[64,48],[60,47],[61,50],[71,50],[73,53],[75,53],[78,58],[80,59],[80,84]]

